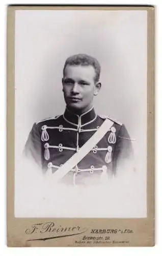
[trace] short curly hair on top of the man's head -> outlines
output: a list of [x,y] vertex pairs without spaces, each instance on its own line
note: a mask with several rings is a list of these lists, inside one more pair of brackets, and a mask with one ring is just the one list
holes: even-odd
[[81,53],[72,55],[72,56],[68,57],[65,61],[63,74],[65,73],[65,68],[67,65],[70,65],[70,66],[73,66],[73,65],[90,66],[91,65],[91,66],[93,66],[95,73],[96,73],[94,81],[98,82],[101,67],[100,67],[100,63],[98,62],[98,60],[96,58],[89,56],[87,54],[81,54]]

